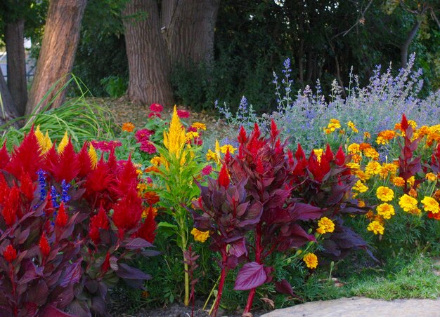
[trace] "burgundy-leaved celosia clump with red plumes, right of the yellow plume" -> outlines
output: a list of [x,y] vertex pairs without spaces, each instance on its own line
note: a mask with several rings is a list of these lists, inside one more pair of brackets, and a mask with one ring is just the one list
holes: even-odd
[[[238,154],[226,152],[218,179],[200,185],[201,197],[193,203],[194,227],[209,231],[211,248],[221,254],[214,316],[226,273],[240,263],[244,264],[234,289],[250,290],[246,314],[256,289],[276,278],[270,265],[273,252],[295,253],[323,237],[325,252],[335,258],[347,255],[350,248],[367,247],[342,225],[342,214],[366,213],[348,201],[355,182],[346,166],[349,157],[342,149],[334,155],[328,147],[320,159],[313,151],[306,158],[300,146],[294,156],[279,135],[274,121],[269,137],[261,135],[257,124],[250,134],[241,128]],[[313,229],[318,232],[311,234]],[[313,269],[318,258],[310,253],[304,262]],[[275,284],[279,292],[293,295],[287,281]]]

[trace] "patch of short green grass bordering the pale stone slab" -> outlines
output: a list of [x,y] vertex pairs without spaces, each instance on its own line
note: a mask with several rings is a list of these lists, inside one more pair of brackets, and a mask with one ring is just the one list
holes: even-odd
[[347,296],[365,296],[379,299],[440,297],[440,277],[434,261],[423,254],[415,255],[406,264],[393,269],[388,264],[383,270],[365,269],[347,279]]

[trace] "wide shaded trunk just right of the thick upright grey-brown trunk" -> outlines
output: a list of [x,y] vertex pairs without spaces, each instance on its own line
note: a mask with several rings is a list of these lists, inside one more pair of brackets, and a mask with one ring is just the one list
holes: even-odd
[[220,0],[163,0],[162,32],[172,65],[214,61],[214,27]]

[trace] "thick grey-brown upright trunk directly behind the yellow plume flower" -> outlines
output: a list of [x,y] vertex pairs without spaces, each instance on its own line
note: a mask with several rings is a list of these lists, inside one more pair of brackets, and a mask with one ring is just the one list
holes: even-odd
[[129,61],[129,100],[173,104],[169,59],[155,0],[131,0],[122,11]]

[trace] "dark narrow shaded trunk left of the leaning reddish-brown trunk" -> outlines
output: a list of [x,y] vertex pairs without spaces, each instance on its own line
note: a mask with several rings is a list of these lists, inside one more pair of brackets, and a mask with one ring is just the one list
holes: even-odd
[[8,88],[20,116],[25,114],[27,102],[24,30],[25,20],[7,22],[5,25],[6,52],[8,53]]

